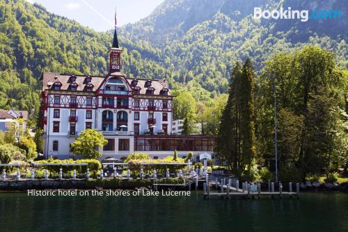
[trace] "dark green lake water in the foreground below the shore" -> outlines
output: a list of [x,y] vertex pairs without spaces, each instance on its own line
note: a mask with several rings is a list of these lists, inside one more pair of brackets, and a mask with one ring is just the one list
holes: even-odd
[[0,231],[348,231],[348,194],[301,199],[0,193]]

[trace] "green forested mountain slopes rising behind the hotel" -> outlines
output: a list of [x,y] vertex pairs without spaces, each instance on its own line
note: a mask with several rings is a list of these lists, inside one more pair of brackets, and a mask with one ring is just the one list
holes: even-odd
[[[280,51],[313,44],[335,52],[347,69],[347,20],[337,22],[255,20],[253,8],[335,8],[344,1],[166,0],[144,20],[118,29],[122,72],[129,77],[168,79],[171,88],[196,100],[226,93],[230,67],[251,58],[260,72]],[[106,74],[112,30],[98,33],[24,0],[0,0],[0,108],[40,106],[42,71]]]

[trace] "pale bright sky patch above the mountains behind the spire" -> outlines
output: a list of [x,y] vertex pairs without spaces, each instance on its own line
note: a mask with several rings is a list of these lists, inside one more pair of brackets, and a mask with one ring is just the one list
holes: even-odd
[[164,0],[27,0],[37,2],[52,13],[76,20],[96,31],[113,28],[117,6],[117,26],[132,23],[150,15]]

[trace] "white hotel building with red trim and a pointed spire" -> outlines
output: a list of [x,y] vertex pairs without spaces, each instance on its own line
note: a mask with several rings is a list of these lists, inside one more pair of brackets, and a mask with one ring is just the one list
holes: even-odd
[[45,157],[72,157],[70,144],[88,128],[108,140],[99,148],[102,158],[127,157],[133,152],[162,158],[173,155],[173,150],[180,157],[189,151],[195,156],[211,154],[214,137],[172,133],[173,95],[166,80],[125,77],[120,72],[121,53],[115,30],[105,77],[42,74]]

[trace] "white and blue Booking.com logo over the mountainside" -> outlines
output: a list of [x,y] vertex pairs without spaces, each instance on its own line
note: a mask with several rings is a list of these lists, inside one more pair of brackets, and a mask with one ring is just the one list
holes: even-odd
[[287,9],[280,8],[280,10],[262,10],[260,7],[254,8],[254,18],[272,18],[274,20],[301,20],[307,22],[308,20],[340,20],[342,13],[340,10],[292,10],[291,7]]

